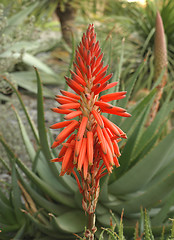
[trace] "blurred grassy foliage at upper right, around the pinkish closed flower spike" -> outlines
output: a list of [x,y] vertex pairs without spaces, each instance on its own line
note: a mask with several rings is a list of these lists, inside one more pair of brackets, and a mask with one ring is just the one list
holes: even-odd
[[105,38],[104,35],[107,34],[107,39],[112,39],[111,43],[107,41],[106,44],[106,55],[111,44],[114,52],[111,57],[111,71],[115,71],[117,66],[115,63],[120,61],[120,42],[125,39],[120,77],[122,88],[127,89],[130,75],[136,72],[140,63],[146,59],[146,65],[138,76],[131,100],[135,100],[135,95],[139,90],[150,90],[154,83],[154,36],[157,10],[160,11],[166,35],[168,80],[172,81],[174,76],[174,2],[172,0],[147,0],[146,3],[146,6],[142,7],[124,0],[108,0],[105,5],[105,14],[102,15],[102,24],[97,29],[100,39]]

